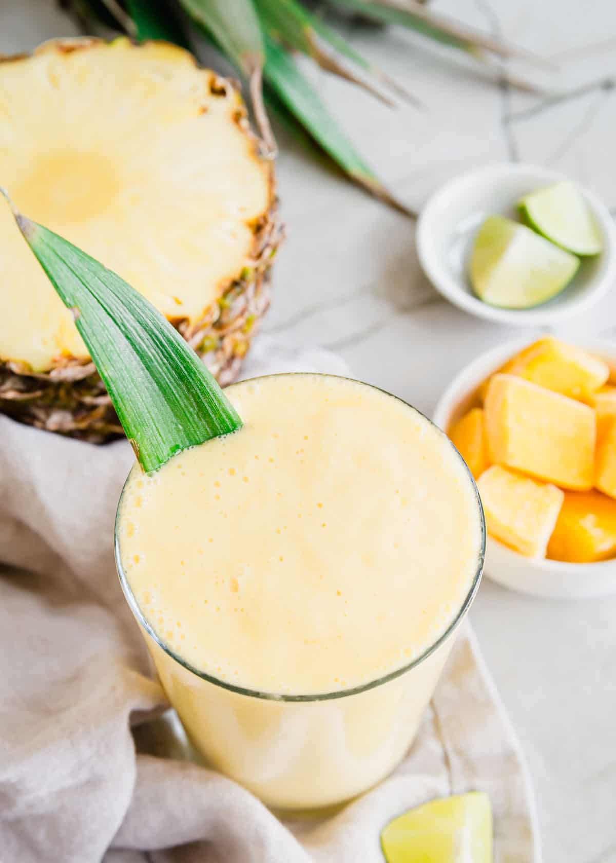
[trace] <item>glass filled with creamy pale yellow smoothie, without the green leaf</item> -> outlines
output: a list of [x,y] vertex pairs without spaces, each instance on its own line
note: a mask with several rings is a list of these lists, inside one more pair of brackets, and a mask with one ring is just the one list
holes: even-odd
[[242,429],[131,471],[120,580],[205,759],[277,809],[342,803],[417,732],[481,579],[481,503],[443,432],[375,387],[225,393]]

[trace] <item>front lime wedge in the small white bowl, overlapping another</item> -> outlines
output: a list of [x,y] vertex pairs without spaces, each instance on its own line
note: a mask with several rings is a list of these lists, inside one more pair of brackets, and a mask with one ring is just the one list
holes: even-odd
[[491,306],[528,309],[555,297],[573,278],[580,261],[504,216],[488,216],[470,257],[470,280]]

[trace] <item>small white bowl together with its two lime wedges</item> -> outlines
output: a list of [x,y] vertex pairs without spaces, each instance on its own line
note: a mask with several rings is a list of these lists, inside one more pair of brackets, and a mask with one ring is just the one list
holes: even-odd
[[[528,327],[593,306],[616,281],[616,229],[600,200],[567,180],[548,168],[505,164],[438,189],[417,226],[419,261],[437,291],[479,318]],[[555,184],[563,186],[547,198],[527,198]],[[496,218],[483,229],[487,251],[474,255],[489,217]]]

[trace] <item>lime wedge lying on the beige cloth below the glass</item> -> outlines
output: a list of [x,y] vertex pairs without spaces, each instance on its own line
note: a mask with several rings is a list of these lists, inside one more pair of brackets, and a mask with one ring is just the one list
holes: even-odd
[[492,863],[492,807],[471,791],[394,818],[380,834],[387,863]]

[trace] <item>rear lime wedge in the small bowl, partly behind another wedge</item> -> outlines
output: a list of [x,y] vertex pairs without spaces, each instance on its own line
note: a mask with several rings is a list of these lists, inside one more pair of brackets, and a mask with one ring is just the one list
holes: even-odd
[[531,228],[575,255],[597,255],[601,237],[593,214],[573,183],[563,181],[531,192],[519,202]]

